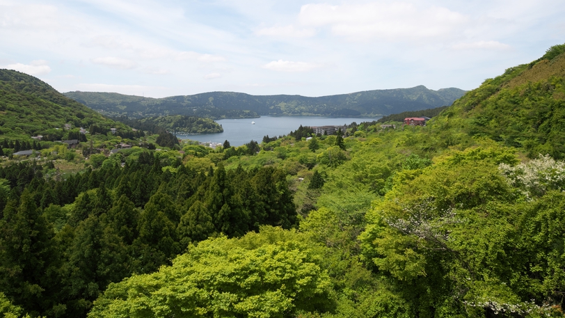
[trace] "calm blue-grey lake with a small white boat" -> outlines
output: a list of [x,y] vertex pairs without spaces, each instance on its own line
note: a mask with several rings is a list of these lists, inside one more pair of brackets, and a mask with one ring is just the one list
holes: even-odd
[[[216,120],[222,125],[223,132],[219,134],[200,134],[200,135],[182,135],[177,136],[181,139],[191,139],[200,141],[201,143],[223,143],[230,141],[230,145],[238,146],[248,143],[249,141],[257,141],[261,143],[263,136],[283,136],[287,135],[300,125],[303,126],[329,126],[329,125],[349,125],[351,122],[370,122],[377,118],[330,118],[330,117],[314,117],[314,116],[287,116],[287,117],[271,117],[262,116],[261,118],[244,118],[244,119],[221,119]],[[253,125],[251,122],[255,122]]]

